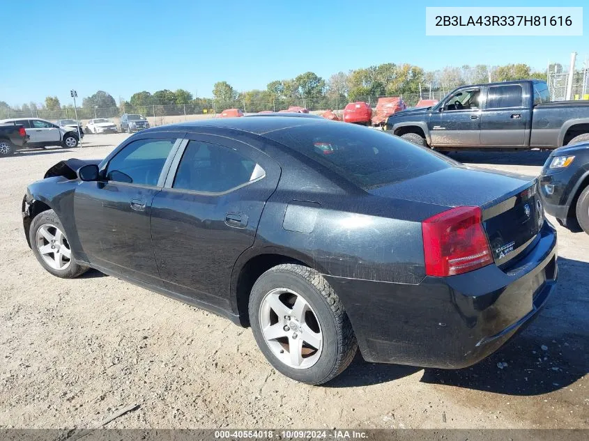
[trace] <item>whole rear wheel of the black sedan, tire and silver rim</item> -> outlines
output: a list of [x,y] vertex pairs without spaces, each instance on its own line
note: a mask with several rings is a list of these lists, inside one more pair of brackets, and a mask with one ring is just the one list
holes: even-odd
[[328,382],[351,363],[358,343],[342,302],[319,272],[278,265],[252,288],[254,337],[285,376],[310,385]]

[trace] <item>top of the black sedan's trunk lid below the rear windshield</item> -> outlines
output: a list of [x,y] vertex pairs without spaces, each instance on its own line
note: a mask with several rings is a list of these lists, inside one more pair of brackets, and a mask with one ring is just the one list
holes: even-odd
[[375,196],[431,203],[448,208],[486,208],[533,185],[534,178],[463,165],[369,190]]

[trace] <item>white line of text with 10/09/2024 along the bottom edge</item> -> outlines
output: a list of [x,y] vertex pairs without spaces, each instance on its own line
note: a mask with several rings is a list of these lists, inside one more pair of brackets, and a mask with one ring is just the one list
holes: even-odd
[[318,439],[318,440],[326,440],[326,439],[333,439],[333,440],[362,440],[368,438],[368,433],[365,431],[347,431],[347,430],[337,430],[334,429],[332,431],[325,431],[325,430],[259,430],[259,431],[215,431],[215,439],[217,440],[244,440],[248,438],[256,438],[256,439],[272,439],[272,438],[280,438],[280,439]]

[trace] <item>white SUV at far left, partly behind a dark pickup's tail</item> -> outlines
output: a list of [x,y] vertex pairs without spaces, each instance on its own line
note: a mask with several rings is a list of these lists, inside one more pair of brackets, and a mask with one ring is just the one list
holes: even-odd
[[67,148],[77,147],[79,138],[75,127],[59,127],[54,123],[40,118],[10,118],[0,120],[0,124],[22,124],[26,134],[29,135],[27,148],[62,146]]

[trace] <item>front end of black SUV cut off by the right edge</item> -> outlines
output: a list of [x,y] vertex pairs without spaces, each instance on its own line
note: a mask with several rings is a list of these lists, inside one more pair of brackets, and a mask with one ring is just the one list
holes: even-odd
[[546,160],[540,189],[546,212],[564,226],[575,221],[589,234],[589,134],[581,144],[560,147]]

